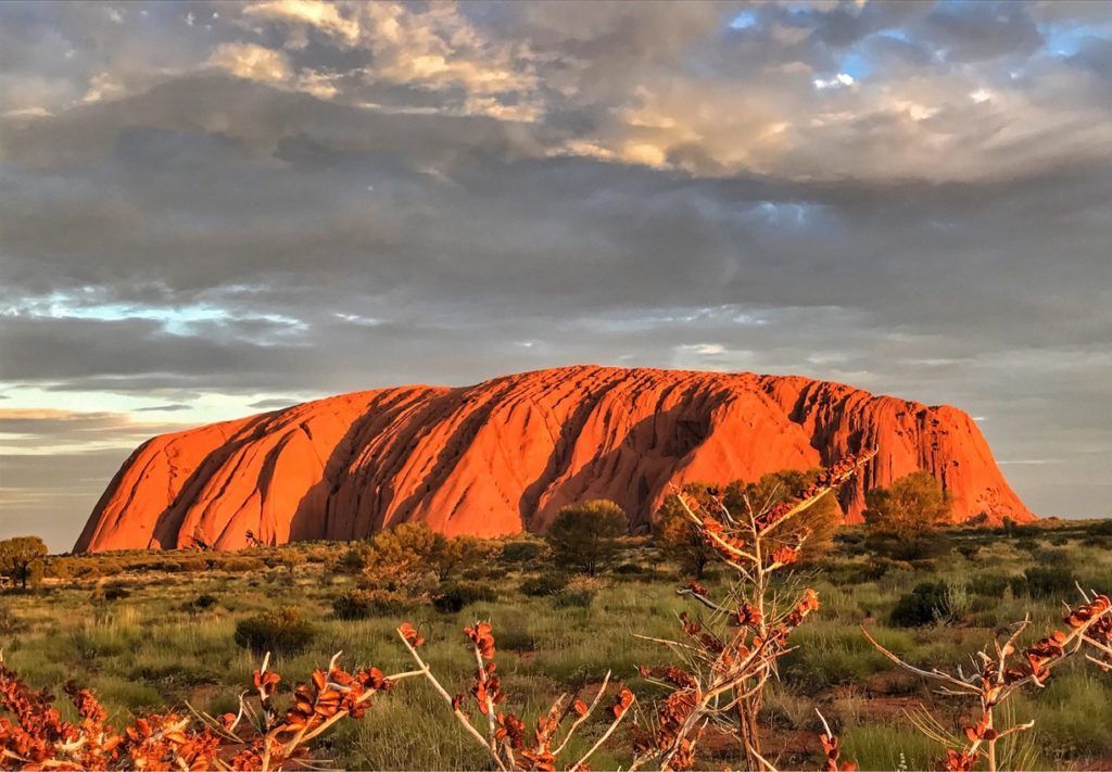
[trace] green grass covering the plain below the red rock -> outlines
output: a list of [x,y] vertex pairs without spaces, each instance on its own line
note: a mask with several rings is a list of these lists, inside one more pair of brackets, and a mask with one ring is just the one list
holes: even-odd
[[[1073,598],[1016,596],[993,577],[1022,575],[1052,550],[1054,560],[1068,562],[1085,586],[1112,587],[1112,553],[1086,545],[1083,533],[1063,529],[1054,538],[1062,543],[1051,547],[1046,538],[1036,538],[1031,550],[1017,548],[1017,540],[1002,535],[957,534],[955,542],[980,545],[975,560],[955,552],[919,566],[873,563],[875,558],[863,554],[860,545],[846,545],[820,567],[808,567],[801,580],[818,591],[823,605],[796,632],[793,643],[798,647],[782,661],[781,679],[767,694],[762,719],[771,730],[768,743],[775,748],[778,740],[795,733],[796,745],[810,744],[805,754],[797,750],[790,758],[802,765],[817,763],[814,707],[820,706],[843,738],[843,756],[856,759],[861,769],[935,766],[940,749],[912,725],[905,711],[926,701],[960,731],[974,706],[940,697],[915,676],[898,671],[873,650],[860,626],[865,625],[884,646],[912,663],[947,669],[967,667],[969,655],[989,643],[997,627],[1027,613],[1033,640],[1061,626],[1061,601]],[[83,568],[102,573],[96,568],[97,558],[80,560]],[[128,560],[149,557],[137,554]],[[523,712],[530,725],[557,695],[588,696],[590,685],[597,685],[608,671],[637,690],[648,706],[656,691],[639,679],[637,665],[674,660],[666,647],[638,636],[676,637],[677,615],[697,610],[677,596],[676,587],[682,585],[677,570],[652,547],[638,546],[623,560],[655,570],[605,576],[588,586],[589,603],[575,605],[519,592],[525,577],[546,566],[498,566],[503,574],[492,580],[499,592],[497,601],[473,603],[458,613],[439,613],[424,605],[408,618],[428,639],[425,656],[449,692],[466,689],[475,667],[460,629],[476,618],[490,618],[498,639],[498,672],[510,695],[507,706]],[[717,592],[728,578],[723,574],[707,584]],[[888,614],[901,595],[920,582],[939,580],[961,588],[960,618],[914,630],[888,625]],[[395,633],[401,620],[334,616],[332,600],[350,590],[354,581],[329,573],[320,560],[294,571],[279,566],[240,573],[122,573],[110,582],[122,585],[128,596],[93,603],[97,581],[71,578],[40,593],[0,596],[7,618],[0,646],[6,662],[31,685],[58,689],[70,679],[88,684],[115,720],[166,706],[183,710],[186,704],[210,713],[232,710],[258,666],[254,655],[236,645],[236,625],[281,605],[298,606],[316,627],[305,651],[276,659],[275,667],[287,685],[308,677],[336,652],[344,652],[342,662],[351,666],[377,665],[388,673],[411,666]],[[990,587],[993,582],[996,586]],[[217,602],[199,611],[191,603],[200,595],[212,595]],[[1016,720],[1034,717],[1036,724],[1032,732],[1002,743],[1005,766],[1084,766],[1112,761],[1112,675],[1076,662],[1064,667],[1046,690],[1027,692],[1011,704]],[[600,724],[585,728],[576,749],[585,750],[602,729]],[[619,735],[625,736],[624,730]],[[595,756],[592,765],[628,764],[623,743],[615,748],[616,752]],[[439,696],[417,679],[379,697],[361,721],[341,723],[320,755],[347,768],[487,765]],[[727,763],[723,759],[713,763]]]

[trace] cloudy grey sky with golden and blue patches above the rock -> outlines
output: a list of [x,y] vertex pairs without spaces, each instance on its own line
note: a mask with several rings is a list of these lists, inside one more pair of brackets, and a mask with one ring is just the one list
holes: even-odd
[[161,432],[596,363],[1112,482],[1112,4],[0,3],[0,537]]

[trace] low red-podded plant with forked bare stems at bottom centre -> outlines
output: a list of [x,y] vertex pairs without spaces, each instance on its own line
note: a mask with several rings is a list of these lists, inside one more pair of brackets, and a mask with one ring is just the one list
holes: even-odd
[[[464,629],[464,635],[475,653],[476,663],[475,675],[468,686],[467,695],[451,695],[433,674],[417,651],[425,644],[425,637],[416,627],[407,622],[398,627],[398,635],[417,663],[419,667],[417,672],[428,679],[451,709],[456,720],[486,750],[495,766],[504,772],[557,769],[560,754],[567,749],[576,731],[590,719],[602,703],[610,682],[610,674],[607,672],[589,705],[583,700],[572,700],[570,695],[562,694],[537,719],[536,728],[530,735],[523,719],[498,709],[498,705],[505,702],[506,694],[502,691],[502,680],[494,662],[495,639],[489,622],[476,622]],[[607,729],[585,753],[565,769],[573,771],[589,769],[587,762],[590,756],[609,740],[635,701],[633,692],[618,687],[614,702],[606,710],[609,720]],[[483,717],[475,717],[473,710],[478,711]],[[566,723],[568,719],[570,722]],[[485,731],[477,728],[476,723],[485,724]]]

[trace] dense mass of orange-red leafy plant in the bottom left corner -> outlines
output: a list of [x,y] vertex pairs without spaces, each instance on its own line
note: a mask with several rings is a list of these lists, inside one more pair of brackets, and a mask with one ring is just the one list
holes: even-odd
[[77,710],[62,719],[48,691],[33,691],[0,663],[0,769],[59,770],[268,770],[304,766],[311,743],[337,722],[359,719],[374,695],[419,672],[386,676],[377,667],[347,672],[337,665],[298,684],[288,710],[274,706],[281,676],[255,671],[258,711],[245,699],[238,714],[161,713],[113,728],[108,711],[88,689],[70,682],[64,691]]

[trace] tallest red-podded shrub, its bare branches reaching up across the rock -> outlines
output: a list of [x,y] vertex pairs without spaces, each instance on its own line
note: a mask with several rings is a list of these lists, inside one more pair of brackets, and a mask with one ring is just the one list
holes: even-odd
[[811,587],[774,586],[773,577],[800,560],[810,531],[798,516],[874,455],[872,451],[835,464],[798,499],[754,506],[746,498],[741,517],[713,493],[708,507],[677,494],[684,514],[736,581],[723,601],[712,600],[706,587],[692,582],[681,594],[712,614],[706,620],[682,614],[683,640],[649,639],[667,645],[683,666],[641,671],[671,693],[658,703],[653,726],[637,738],[633,768],[658,761],[666,770],[691,769],[699,741],[714,726],[737,740],[749,769],[774,769],[762,749],[757,714],[780,657],[793,649],[792,633],[818,608],[818,595]]

